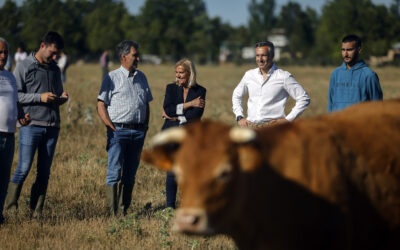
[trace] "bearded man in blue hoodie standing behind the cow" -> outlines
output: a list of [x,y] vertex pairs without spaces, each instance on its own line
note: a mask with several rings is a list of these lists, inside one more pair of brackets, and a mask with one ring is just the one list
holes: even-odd
[[328,113],[363,101],[382,100],[378,75],[359,59],[361,50],[361,39],[358,36],[348,35],[343,38],[343,64],[331,74]]

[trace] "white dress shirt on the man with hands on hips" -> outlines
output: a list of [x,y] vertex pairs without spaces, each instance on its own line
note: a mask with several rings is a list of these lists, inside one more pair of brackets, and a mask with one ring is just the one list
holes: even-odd
[[[243,116],[243,97],[248,94],[247,120],[264,123],[273,119],[296,119],[310,104],[310,97],[304,88],[287,71],[278,69],[275,64],[267,74],[266,80],[259,68],[248,70],[233,91],[233,113]],[[285,115],[285,104],[291,96],[296,105]]]

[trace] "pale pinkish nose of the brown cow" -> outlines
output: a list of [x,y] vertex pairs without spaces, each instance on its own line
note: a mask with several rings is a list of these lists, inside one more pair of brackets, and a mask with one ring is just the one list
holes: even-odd
[[180,233],[206,234],[207,221],[207,215],[203,209],[181,208],[176,211],[172,230]]

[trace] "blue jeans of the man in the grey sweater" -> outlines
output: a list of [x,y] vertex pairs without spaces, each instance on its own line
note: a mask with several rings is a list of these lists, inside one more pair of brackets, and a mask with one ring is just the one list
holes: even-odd
[[36,149],[37,175],[35,183],[47,187],[50,177],[50,167],[57,145],[59,128],[24,126],[19,130],[18,166],[11,182],[23,184],[32,166]]

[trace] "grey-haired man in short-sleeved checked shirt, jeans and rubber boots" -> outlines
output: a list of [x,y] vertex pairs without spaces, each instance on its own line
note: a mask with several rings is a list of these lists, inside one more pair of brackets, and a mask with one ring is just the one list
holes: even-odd
[[106,202],[114,216],[126,215],[131,204],[153,100],[146,76],[137,69],[139,44],[122,41],[117,54],[121,67],[107,74],[97,97],[97,112],[107,127]]

